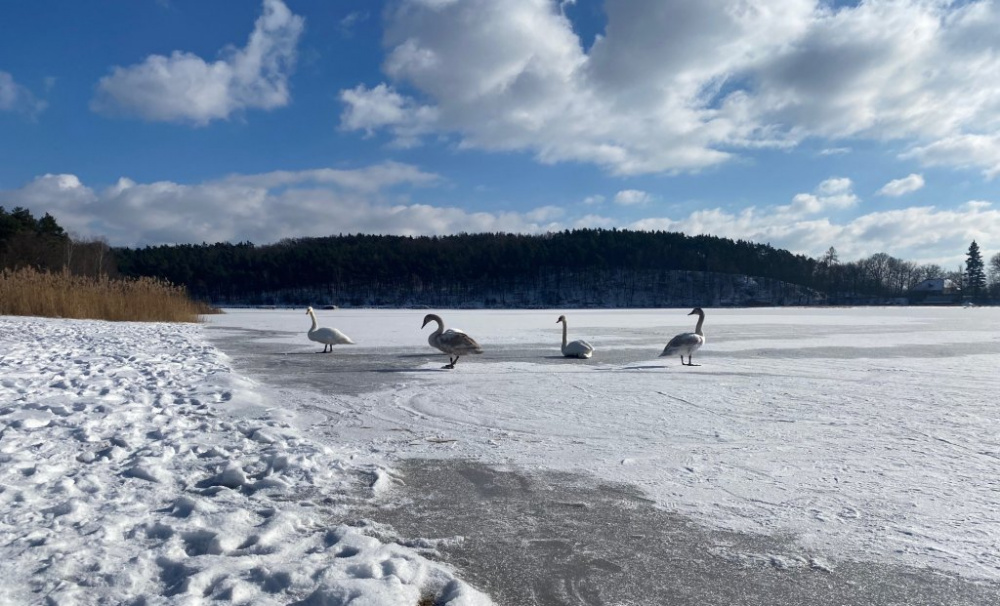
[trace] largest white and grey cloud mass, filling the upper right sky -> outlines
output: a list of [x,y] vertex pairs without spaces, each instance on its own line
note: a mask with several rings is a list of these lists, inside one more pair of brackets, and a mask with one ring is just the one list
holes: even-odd
[[830,153],[898,141],[927,165],[1000,171],[992,0],[606,0],[589,49],[566,6],[401,0],[385,13],[388,80],[341,94],[342,127],[622,175],[809,137]]

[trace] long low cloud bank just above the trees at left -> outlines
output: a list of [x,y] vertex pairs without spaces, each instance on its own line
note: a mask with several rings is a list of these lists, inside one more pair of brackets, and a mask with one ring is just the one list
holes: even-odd
[[106,237],[114,245],[175,244],[328,236],[339,233],[443,235],[459,232],[540,233],[561,229],[565,211],[468,212],[448,204],[414,204],[413,188],[442,179],[386,162],[355,170],[322,168],[229,175],[193,185],[122,178],[105,188],[75,175],[43,175],[0,191],[0,205],[55,216],[68,231]]

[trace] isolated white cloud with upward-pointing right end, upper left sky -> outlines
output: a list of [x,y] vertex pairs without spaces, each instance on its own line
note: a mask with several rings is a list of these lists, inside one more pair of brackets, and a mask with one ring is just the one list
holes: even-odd
[[245,109],[274,109],[291,100],[288,78],[304,21],[281,0],[263,14],[243,48],[212,62],[183,51],[151,55],[101,78],[91,109],[150,121],[205,125]]

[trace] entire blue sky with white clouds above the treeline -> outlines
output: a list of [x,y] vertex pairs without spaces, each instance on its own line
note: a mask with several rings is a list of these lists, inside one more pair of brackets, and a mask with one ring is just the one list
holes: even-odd
[[116,245],[663,229],[1000,249],[1000,5],[0,4],[0,204]]

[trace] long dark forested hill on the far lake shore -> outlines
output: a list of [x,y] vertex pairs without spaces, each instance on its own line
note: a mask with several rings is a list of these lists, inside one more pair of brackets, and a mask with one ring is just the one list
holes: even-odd
[[940,271],[884,254],[841,264],[833,249],[812,259],[745,240],[617,229],[341,235],[122,248],[115,256],[125,275],[165,278],[220,304],[864,303],[905,296]]

